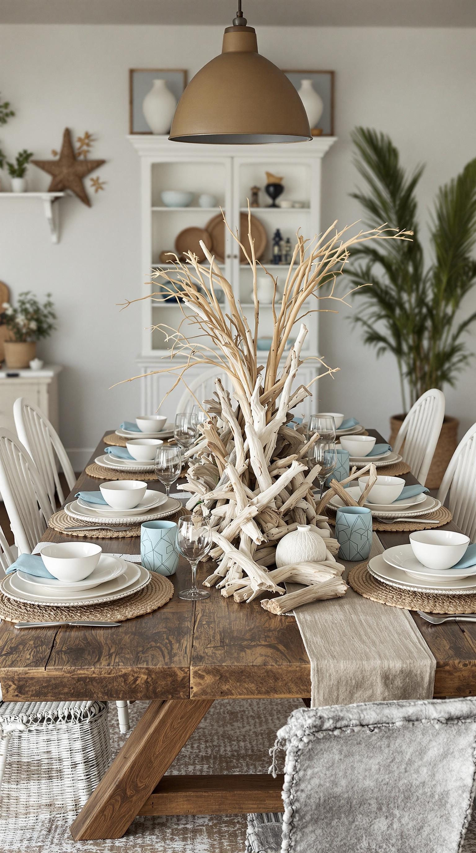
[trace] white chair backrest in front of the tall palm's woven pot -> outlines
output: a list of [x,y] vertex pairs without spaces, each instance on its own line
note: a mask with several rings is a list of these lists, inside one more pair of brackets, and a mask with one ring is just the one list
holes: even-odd
[[411,407],[393,444],[393,450],[398,453],[405,442],[404,460],[421,485],[425,485],[443,419],[444,393],[431,388]]

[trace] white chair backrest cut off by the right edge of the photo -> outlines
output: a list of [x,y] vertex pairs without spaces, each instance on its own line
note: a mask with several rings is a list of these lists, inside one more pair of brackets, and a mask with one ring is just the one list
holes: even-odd
[[476,542],[476,424],[461,438],[438,490],[444,503],[450,491],[449,508],[463,533]]

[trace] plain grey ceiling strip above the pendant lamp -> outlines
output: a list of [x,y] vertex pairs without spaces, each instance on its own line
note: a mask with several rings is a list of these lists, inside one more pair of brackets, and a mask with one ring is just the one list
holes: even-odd
[[[243,0],[251,26],[476,26],[476,0]],[[0,0],[3,24],[230,24],[235,0]]]

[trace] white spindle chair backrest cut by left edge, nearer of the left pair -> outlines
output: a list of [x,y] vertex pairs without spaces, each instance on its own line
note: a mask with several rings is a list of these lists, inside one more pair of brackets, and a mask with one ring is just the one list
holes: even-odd
[[0,493],[20,554],[31,554],[51,515],[49,498],[32,457],[0,427]]

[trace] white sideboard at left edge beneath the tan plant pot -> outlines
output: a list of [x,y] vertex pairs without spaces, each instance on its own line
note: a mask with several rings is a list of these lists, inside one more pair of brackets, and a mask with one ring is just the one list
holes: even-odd
[[16,435],[13,405],[17,397],[38,406],[58,429],[58,374],[61,367],[53,364],[42,370],[0,370],[0,427]]

